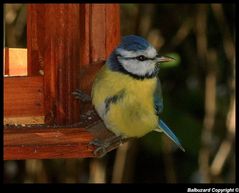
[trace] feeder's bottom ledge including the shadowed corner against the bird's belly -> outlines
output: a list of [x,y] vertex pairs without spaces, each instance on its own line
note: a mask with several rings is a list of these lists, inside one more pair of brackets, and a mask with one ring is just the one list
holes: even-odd
[[94,111],[83,115],[80,123],[68,127],[6,125],[4,160],[94,157],[96,147],[89,143],[113,135]]

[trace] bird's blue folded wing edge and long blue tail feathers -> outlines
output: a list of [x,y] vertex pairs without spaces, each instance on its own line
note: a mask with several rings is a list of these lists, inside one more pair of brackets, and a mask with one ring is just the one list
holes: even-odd
[[[157,86],[154,92],[154,107],[155,107],[156,114],[159,117],[160,113],[163,111],[163,96],[162,96],[160,80],[158,80]],[[159,129],[156,129],[156,131],[164,132],[182,151],[185,151],[185,149],[183,148],[183,146],[181,145],[180,141],[178,140],[176,135],[173,133],[173,131],[160,118],[159,118],[158,126],[159,126]]]

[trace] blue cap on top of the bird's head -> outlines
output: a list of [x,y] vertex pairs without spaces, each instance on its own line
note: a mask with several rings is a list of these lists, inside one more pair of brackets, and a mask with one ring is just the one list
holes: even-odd
[[136,35],[128,35],[122,38],[118,48],[128,51],[137,51],[146,50],[149,46],[150,44],[146,39]]

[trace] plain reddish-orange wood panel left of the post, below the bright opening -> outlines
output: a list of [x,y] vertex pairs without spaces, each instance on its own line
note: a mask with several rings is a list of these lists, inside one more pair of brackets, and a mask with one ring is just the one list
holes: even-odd
[[43,78],[4,78],[4,117],[42,116]]

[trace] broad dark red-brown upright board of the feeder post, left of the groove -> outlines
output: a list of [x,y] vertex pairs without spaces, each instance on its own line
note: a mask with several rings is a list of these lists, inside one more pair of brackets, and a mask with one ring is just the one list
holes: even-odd
[[77,122],[79,102],[71,93],[80,74],[80,4],[31,4],[29,9],[33,12],[29,55],[31,63],[42,61],[45,122]]

